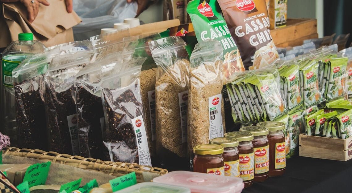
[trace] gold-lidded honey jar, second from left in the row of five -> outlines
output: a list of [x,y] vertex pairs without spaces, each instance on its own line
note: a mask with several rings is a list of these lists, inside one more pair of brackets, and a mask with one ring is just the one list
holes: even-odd
[[218,144],[224,147],[225,175],[239,177],[239,141],[236,138],[219,137],[210,139],[210,144]]

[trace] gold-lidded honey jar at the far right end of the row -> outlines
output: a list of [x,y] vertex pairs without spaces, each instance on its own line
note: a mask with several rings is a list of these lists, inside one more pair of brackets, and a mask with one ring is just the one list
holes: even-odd
[[286,167],[285,124],[278,121],[265,121],[258,123],[257,126],[269,129],[269,176],[283,175]]

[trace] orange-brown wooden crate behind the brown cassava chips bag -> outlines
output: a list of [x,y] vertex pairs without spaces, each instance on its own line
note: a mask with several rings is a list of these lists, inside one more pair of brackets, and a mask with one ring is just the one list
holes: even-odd
[[318,38],[316,19],[287,19],[287,26],[270,31],[276,47],[300,46],[303,40]]

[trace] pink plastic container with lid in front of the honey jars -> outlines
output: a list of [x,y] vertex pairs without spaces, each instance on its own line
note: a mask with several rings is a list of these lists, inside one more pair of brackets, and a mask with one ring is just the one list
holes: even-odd
[[187,171],[170,172],[153,182],[186,187],[192,193],[240,193],[244,188],[241,178]]

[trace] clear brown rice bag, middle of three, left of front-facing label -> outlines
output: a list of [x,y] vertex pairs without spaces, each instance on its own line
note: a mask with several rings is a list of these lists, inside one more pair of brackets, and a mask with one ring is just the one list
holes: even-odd
[[189,60],[185,45],[180,36],[149,42],[157,64],[156,151],[161,162],[187,162]]

